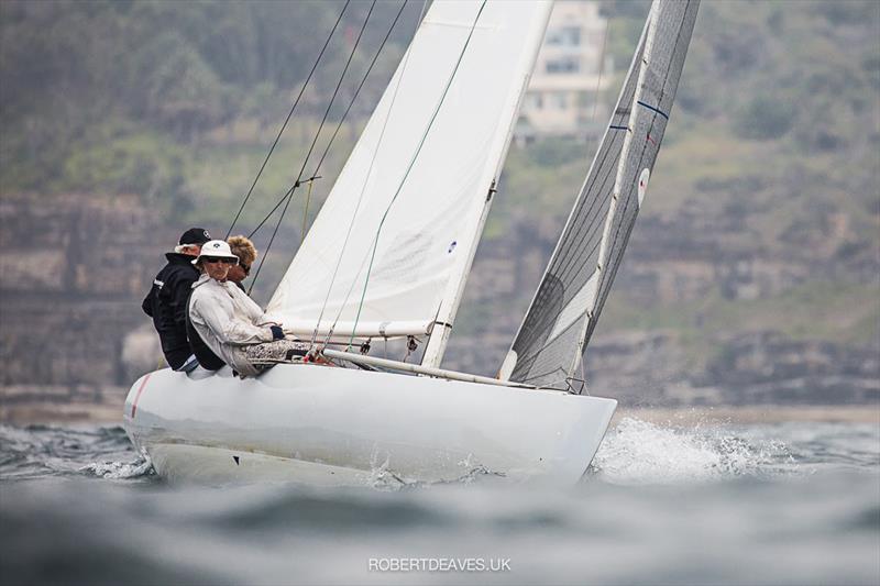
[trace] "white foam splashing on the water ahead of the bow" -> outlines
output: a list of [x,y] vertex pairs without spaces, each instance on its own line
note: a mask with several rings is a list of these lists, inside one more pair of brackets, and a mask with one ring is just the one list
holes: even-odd
[[624,418],[605,436],[592,468],[612,484],[679,484],[784,473],[793,463],[779,441],[747,441],[727,428],[682,429]]

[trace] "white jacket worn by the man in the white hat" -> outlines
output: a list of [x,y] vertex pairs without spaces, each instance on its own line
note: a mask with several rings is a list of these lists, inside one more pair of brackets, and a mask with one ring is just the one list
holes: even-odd
[[189,320],[208,347],[233,369],[245,376],[257,374],[242,346],[272,342],[274,322],[234,283],[202,274],[193,284]]

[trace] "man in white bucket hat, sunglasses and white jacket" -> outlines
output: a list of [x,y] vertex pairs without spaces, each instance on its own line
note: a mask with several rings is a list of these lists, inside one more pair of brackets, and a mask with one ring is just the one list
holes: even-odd
[[290,350],[305,354],[306,345],[285,340],[280,325],[227,280],[229,267],[238,262],[222,240],[202,245],[193,261],[201,276],[193,284],[189,320],[205,344],[233,371],[241,376],[255,376],[266,367],[265,362],[258,364],[261,361],[289,358]]

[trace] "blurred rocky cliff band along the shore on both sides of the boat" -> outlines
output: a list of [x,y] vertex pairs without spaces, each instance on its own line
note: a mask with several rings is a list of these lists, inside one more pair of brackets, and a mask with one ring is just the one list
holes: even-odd
[[[700,344],[708,347],[694,352],[689,338],[713,319],[705,313],[711,309],[701,309],[713,291],[734,300],[761,298],[809,278],[815,263],[825,262],[815,254],[807,263],[725,246],[721,229],[716,239],[693,236],[689,231],[700,221],[649,219],[636,231],[613,297],[637,311],[675,302],[691,309],[683,312],[685,327],[634,328],[610,308],[587,352],[594,392],[630,405],[880,397],[880,334],[850,344],[744,324],[710,331]],[[134,197],[81,195],[4,197],[0,223],[4,402],[119,401],[136,376],[162,364],[140,303],[185,226],[161,223]],[[524,219],[481,246],[446,367],[494,374],[553,245],[557,226],[547,223]],[[827,255],[829,266],[834,254]]]

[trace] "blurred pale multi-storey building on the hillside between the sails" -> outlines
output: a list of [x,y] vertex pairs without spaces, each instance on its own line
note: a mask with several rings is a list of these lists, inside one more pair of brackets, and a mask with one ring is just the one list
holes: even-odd
[[581,140],[601,133],[608,106],[597,96],[614,76],[606,55],[608,21],[598,2],[557,1],[526,92],[514,140],[541,136]]

